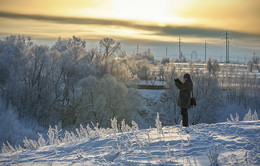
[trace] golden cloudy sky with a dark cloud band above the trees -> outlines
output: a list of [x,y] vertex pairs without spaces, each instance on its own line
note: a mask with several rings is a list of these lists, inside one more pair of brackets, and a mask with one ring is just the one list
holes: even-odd
[[170,52],[178,50],[180,36],[183,52],[186,48],[186,54],[192,50],[200,54],[205,41],[212,51],[213,46],[216,50],[224,46],[221,37],[227,30],[234,56],[259,53],[259,0],[0,0],[0,4],[2,37],[25,34],[51,40],[75,35],[93,41],[111,37],[126,47],[139,44],[160,54],[166,45]]

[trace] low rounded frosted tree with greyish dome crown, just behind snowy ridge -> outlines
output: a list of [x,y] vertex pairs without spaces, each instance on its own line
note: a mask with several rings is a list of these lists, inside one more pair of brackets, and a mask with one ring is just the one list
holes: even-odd
[[107,127],[116,118],[119,123],[125,119],[130,123],[139,106],[139,95],[128,89],[111,75],[102,79],[93,76],[80,81],[80,92],[75,107],[76,123],[98,123]]

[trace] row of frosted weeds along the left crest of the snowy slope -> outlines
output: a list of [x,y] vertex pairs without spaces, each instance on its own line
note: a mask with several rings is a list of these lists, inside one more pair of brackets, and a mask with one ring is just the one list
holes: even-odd
[[[124,122],[124,120],[122,121]],[[132,121],[132,127],[129,127],[127,124],[122,123],[124,127],[121,126],[123,129],[122,131],[137,131],[138,130],[138,124],[135,121]],[[66,142],[73,142],[81,139],[86,139],[86,138],[93,138],[93,137],[103,137],[111,134],[116,134],[119,132],[118,126],[117,126],[117,120],[111,119],[111,126],[112,128],[100,128],[99,125],[94,125],[92,123],[93,128],[89,126],[89,124],[86,126],[86,128],[83,127],[83,125],[80,125],[80,128],[76,128],[76,134],[71,131],[62,131],[59,130],[57,126],[52,128],[51,126],[49,127],[47,133],[47,138],[44,139],[41,133],[38,133],[38,140],[35,139],[28,139],[25,137],[23,139],[23,147],[25,149],[35,149],[38,147],[43,147],[47,145],[59,145],[61,143],[66,143]],[[20,145],[13,146],[11,145],[8,141],[2,144],[2,152],[3,153],[13,153],[18,150],[24,150]]]

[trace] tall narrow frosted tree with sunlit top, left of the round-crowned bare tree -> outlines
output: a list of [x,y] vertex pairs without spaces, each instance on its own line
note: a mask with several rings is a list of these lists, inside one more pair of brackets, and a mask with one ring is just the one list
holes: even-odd
[[87,57],[86,41],[73,36],[72,39],[59,38],[52,50],[58,51],[60,58],[61,84],[63,86],[63,105],[74,102],[75,84],[84,77],[84,66],[88,65],[92,57]]

